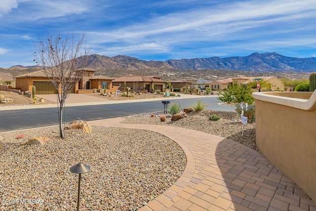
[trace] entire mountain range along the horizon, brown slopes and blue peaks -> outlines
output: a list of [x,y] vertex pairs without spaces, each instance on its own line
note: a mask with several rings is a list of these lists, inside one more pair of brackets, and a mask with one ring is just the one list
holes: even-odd
[[[179,76],[203,77],[206,73],[221,75],[227,72],[252,72],[267,75],[271,72],[309,73],[316,71],[316,57],[287,57],[276,52],[252,53],[248,56],[210,57],[194,59],[170,59],[167,61],[146,61],[135,57],[118,55],[88,55],[88,67],[97,70],[95,75],[120,77],[123,75],[158,75],[165,78],[179,79]],[[34,71],[37,68],[16,65],[2,69],[13,76]],[[197,74],[199,73],[199,74]],[[249,75],[248,74],[248,75]],[[182,77],[183,78],[183,77]],[[204,77],[207,78],[207,77]]]

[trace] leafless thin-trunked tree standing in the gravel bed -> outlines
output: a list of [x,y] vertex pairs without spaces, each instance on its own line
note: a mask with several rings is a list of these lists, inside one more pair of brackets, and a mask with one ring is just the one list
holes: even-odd
[[62,120],[63,107],[66,98],[74,86],[82,79],[88,63],[87,55],[89,48],[84,48],[81,53],[81,46],[84,44],[84,34],[75,41],[74,33],[63,37],[61,33],[47,34],[47,39],[39,38],[38,43],[33,40],[36,51],[34,61],[40,66],[45,75],[57,89],[59,101],[59,133],[64,138]]

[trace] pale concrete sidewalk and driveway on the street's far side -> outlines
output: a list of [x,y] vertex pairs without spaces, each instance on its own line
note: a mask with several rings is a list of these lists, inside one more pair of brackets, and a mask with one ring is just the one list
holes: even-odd
[[[38,94],[38,98],[43,98],[44,100],[50,100],[57,103],[56,94]],[[181,97],[168,97],[168,98],[154,98],[154,99],[137,99],[133,100],[127,98],[127,100],[109,100],[106,97],[95,97],[87,94],[70,94],[66,99],[65,104],[67,106],[85,106],[85,105],[102,105],[102,104],[116,104],[116,103],[133,103],[133,102],[148,102],[148,101],[161,101],[168,99],[188,99],[188,98],[199,98],[199,97],[217,97],[217,95],[190,95],[181,94]],[[19,110],[19,109],[35,109],[35,108],[56,108],[56,104],[42,104],[42,105],[21,105],[21,106],[0,106],[0,111],[5,110]]]

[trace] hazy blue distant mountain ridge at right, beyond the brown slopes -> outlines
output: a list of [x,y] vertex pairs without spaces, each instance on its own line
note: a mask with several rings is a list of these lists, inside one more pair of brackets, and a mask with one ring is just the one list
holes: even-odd
[[232,71],[294,71],[311,72],[316,70],[316,57],[295,58],[274,53],[252,53],[248,56],[226,58],[210,57],[196,59],[170,59],[170,66],[180,70],[232,70]]

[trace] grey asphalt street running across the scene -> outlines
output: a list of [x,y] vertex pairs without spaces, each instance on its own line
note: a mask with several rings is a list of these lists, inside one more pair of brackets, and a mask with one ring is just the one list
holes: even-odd
[[[221,101],[216,97],[203,97],[194,99],[170,99],[170,103],[176,102],[182,108],[188,108],[200,99],[207,105],[208,110],[234,111],[229,106],[219,105]],[[163,113],[162,100],[148,102],[115,103],[86,106],[64,107],[63,122],[70,123],[74,120],[100,120],[116,117],[133,116],[147,113]],[[35,108],[20,110],[0,111],[0,132],[45,127],[58,125],[58,108]]]

